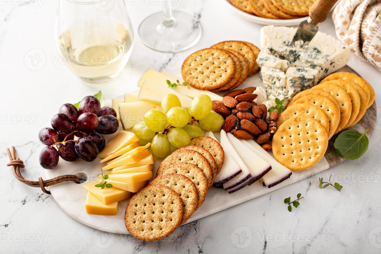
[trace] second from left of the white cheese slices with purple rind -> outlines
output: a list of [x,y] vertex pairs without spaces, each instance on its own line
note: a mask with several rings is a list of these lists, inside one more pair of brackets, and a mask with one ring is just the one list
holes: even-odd
[[[229,155],[233,158],[235,162],[239,165],[242,172],[229,180],[228,182],[224,183],[224,189],[228,190],[231,189],[237,185],[242,184],[247,179],[251,177],[251,172],[248,169],[247,165],[243,162],[241,157],[238,155],[237,151],[233,148],[231,142],[227,138],[226,132],[222,129],[221,130],[221,145],[224,147],[225,153],[229,153]],[[248,183],[246,183],[243,187],[245,187]]]

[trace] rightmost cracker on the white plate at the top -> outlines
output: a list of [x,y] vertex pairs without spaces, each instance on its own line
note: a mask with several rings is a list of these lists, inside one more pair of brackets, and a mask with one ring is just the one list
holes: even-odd
[[315,0],[272,0],[275,7],[294,16],[307,16]]

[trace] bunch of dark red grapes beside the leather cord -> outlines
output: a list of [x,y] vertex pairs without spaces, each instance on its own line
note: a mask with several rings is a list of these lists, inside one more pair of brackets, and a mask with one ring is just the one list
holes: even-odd
[[[59,157],[66,161],[94,161],[106,145],[102,134],[112,134],[119,128],[117,114],[110,107],[102,107],[94,96],[86,96],[77,108],[66,103],[51,118],[51,127],[38,133],[42,144],[40,165],[45,169],[57,166]],[[75,140],[74,136],[79,137]],[[54,148],[56,145],[57,149]]]

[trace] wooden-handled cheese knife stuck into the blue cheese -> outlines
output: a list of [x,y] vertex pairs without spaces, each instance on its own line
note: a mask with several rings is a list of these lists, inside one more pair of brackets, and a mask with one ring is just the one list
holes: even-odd
[[300,23],[291,45],[294,45],[295,42],[299,40],[303,40],[305,45],[310,43],[317,31],[319,31],[319,23],[324,22],[328,18],[332,7],[337,1],[338,0],[317,0],[309,10],[308,19]]

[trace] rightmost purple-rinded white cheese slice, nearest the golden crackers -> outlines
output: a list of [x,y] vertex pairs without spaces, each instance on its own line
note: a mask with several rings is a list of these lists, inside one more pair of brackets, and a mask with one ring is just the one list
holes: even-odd
[[271,164],[272,169],[270,172],[262,177],[262,181],[268,188],[274,187],[275,185],[280,184],[281,182],[290,178],[292,171],[275,160],[254,140],[242,140],[242,143]]

